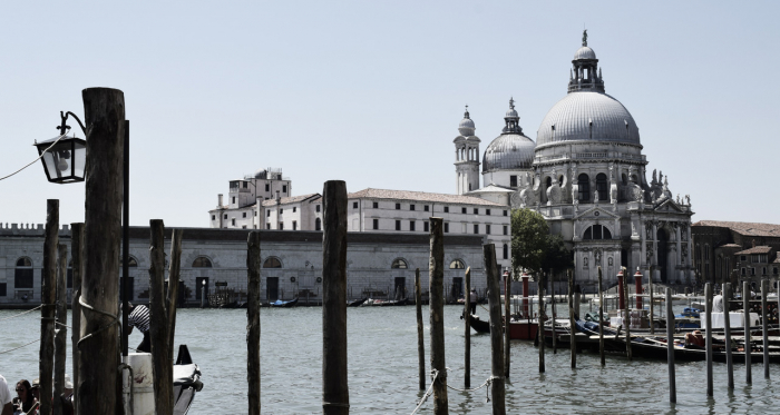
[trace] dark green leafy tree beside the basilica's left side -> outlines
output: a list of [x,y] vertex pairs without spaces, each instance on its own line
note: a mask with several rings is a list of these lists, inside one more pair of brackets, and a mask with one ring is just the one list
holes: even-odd
[[519,276],[523,268],[539,273],[548,249],[549,227],[545,218],[530,209],[511,211],[511,267]]

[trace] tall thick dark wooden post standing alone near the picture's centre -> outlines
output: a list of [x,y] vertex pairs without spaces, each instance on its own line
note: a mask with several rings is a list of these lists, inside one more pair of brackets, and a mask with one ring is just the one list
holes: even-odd
[[322,199],[322,413],[347,415],[347,184],[325,181]]

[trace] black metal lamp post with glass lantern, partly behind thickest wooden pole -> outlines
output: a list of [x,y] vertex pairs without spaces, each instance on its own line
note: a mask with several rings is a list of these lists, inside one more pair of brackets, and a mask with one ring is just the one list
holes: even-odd
[[[87,129],[81,120],[70,111],[60,111],[61,123],[57,127],[60,137],[50,140],[35,142],[38,155],[41,156],[46,178],[59,185],[84,181],[85,167],[87,164],[87,141],[76,137],[68,137],[70,126],[66,122],[68,117],[74,117],[78,122],[84,136]],[[129,218],[130,218],[130,122],[125,120],[125,144],[123,160],[123,217],[121,217],[121,355],[127,357],[127,290],[129,289]]]

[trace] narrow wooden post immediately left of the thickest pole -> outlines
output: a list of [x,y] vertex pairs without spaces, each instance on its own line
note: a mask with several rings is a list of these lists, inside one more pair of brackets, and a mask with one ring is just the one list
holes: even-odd
[[81,276],[84,275],[84,224],[70,224],[70,257],[72,258],[72,329],[70,330],[70,350],[72,353],[74,414],[77,414],[76,404],[78,398],[76,395],[78,395],[78,362],[80,358],[78,340],[81,333],[81,305],[78,300],[81,295]]

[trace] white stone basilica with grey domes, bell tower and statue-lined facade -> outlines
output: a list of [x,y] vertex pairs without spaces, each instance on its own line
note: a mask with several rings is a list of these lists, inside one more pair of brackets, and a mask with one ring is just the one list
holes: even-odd
[[608,284],[621,266],[653,280],[693,280],[690,197],[673,196],[669,178],[642,154],[640,129],[607,95],[595,51],[574,53],[568,93],[542,120],[536,142],[523,134],[515,102],[505,127],[485,149],[479,188],[479,144],[468,108],[455,139],[458,195],[477,196],[542,214],[550,233],[573,250],[583,288]]

